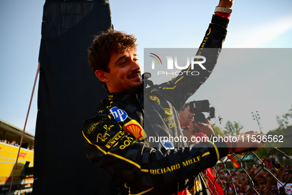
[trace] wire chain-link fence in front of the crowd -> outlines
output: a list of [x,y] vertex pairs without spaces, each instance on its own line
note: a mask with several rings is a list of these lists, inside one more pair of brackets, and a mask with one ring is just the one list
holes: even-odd
[[265,158],[254,152],[232,154],[206,170],[209,192],[212,195],[291,195],[292,157],[276,147],[262,149],[267,150]]

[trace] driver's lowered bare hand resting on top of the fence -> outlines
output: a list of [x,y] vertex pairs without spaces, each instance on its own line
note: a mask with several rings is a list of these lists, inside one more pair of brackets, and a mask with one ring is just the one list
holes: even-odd
[[[257,140],[252,139],[251,136],[255,137]],[[248,137],[249,136],[249,137]],[[259,136],[259,137],[258,137]],[[249,131],[246,133],[241,133],[239,135],[235,135],[232,137],[236,137],[237,142],[235,143],[235,153],[243,153],[247,151],[256,151],[259,150],[261,147],[265,146],[265,142],[260,142],[262,140],[263,135],[260,133],[254,133],[253,131]],[[231,137],[231,138],[232,138]],[[260,138],[260,139],[259,139]],[[233,139],[235,141],[235,138]],[[227,143],[229,147],[230,143]],[[234,147],[234,143],[233,143]]]

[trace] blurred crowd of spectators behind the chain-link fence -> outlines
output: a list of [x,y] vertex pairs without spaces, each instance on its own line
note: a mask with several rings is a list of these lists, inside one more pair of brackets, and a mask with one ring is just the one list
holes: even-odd
[[[290,195],[292,194],[291,164],[292,162],[289,165],[281,165],[276,162],[275,158],[270,157],[263,163],[229,172],[222,168],[222,164],[221,167],[216,167],[218,174],[215,178],[217,177],[216,182],[223,191],[226,189],[227,195],[257,195],[257,193],[259,195]],[[263,169],[263,167],[267,170]],[[286,189],[275,178],[283,185],[286,184]]]

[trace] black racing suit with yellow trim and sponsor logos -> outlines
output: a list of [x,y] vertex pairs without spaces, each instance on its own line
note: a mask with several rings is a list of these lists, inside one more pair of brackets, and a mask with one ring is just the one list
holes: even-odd
[[[207,58],[204,63],[207,70],[198,67],[197,76],[184,72],[167,83],[145,90],[141,85],[126,92],[107,94],[107,99],[84,121],[88,159],[107,170],[121,194],[209,193],[199,173],[227,155],[225,143],[202,142],[186,147],[184,142],[172,142],[175,148],[157,149],[149,146],[149,139],[150,135],[183,136],[178,111],[213,70],[228,21],[216,15],[212,17],[197,52]],[[205,48],[215,49],[207,52]]]

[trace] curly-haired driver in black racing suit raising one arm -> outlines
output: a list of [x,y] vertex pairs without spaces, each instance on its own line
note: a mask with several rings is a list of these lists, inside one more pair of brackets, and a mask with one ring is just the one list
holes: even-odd
[[[200,53],[207,58],[200,76],[182,70],[171,81],[144,89],[133,35],[108,30],[89,47],[89,64],[105,86],[107,99],[84,121],[87,157],[107,170],[122,195],[209,194],[200,172],[228,153],[263,146],[247,143],[248,135],[260,135],[254,132],[234,136],[237,143],[227,139],[187,147],[184,142],[152,146],[149,141],[149,135],[183,136],[178,112],[214,68],[232,4],[233,0],[220,0],[215,9],[200,46]],[[208,53],[206,48],[215,50]]]

